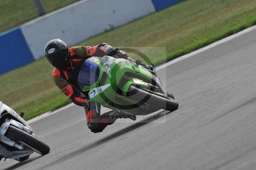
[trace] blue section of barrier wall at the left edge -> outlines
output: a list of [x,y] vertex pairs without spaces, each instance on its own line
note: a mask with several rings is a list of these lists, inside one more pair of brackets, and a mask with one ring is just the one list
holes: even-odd
[[34,61],[20,28],[0,34],[0,74]]

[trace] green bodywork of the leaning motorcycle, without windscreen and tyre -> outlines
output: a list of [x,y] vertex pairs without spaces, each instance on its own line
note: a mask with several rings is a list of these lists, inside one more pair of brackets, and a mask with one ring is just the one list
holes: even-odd
[[[126,93],[131,84],[141,86],[146,89],[149,85],[140,79],[133,77],[125,77],[125,74],[130,73],[151,80],[151,72],[143,66],[136,65],[136,63],[125,60],[116,59],[110,56],[104,56],[102,60],[96,58],[95,63],[99,66],[99,78],[91,86],[84,86],[83,91],[89,91],[89,98],[92,101],[99,102],[104,107],[111,109],[130,109],[127,113],[137,112],[137,109],[131,105],[137,104],[137,101],[126,98]],[[105,80],[103,74],[106,74]],[[100,83],[101,82],[101,83]],[[95,90],[95,92],[93,92]]]

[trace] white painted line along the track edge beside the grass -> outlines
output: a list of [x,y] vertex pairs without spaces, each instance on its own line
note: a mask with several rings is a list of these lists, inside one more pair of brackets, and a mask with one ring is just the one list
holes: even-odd
[[[253,30],[255,30],[255,29],[256,29],[256,26],[251,26],[251,27],[249,27],[249,28],[247,28],[247,29],[244,29],[244,30],[241,31],[241,32],[238,32],[238,33],[236,33],[236,34],[230,35],[229,37],[226,37],[226,38],[224,38],[224,39],[218,40],[218,41],[216,41],[216,42],[214,42],[214,43],[211,43],[211,44],[209,44],[208,46],[205,46],[205,47],[203,47],[203,48],[201,48],[201,49],[198,49],[198,50],[196,50],[196,51],[190,52],[189,54],[186,54],[186,55],[180,56],[180,57],[178,57],[178,58],[175,58],[174,60],[168,61],[167,63],[163,63],[163,64],[157,66],[155,69],[156,69],[156,70],[163,69],[163,68],[168,67],[168,66],[170,66],[170,65],[172,65],[172,64],[174,64],[174,63],[177,63],[177,62],[179,62],[179,61],[183,61],[183,60],[185,60],[186,58],[192,57],[192,56],[194,56],[194,55],[196,55],[196,54],[198,54],[198,53],[200,53],[200,52],[204,52],[204,51],[206,51],[206,50],[208,50],[208,49],[210,49],[210,48],[212,48],[212,47],[215,47],[215,46],[218,46],[218,45],[220,45],[220,44],[222,44],[222,43],[225,43],[225,42],[227,42],[227,41],[233,40],[234,38],[239,37],[239,36],[241,36],[241,35],[244,35],[244,34],[246,34],[246,33],[248,33],[248,32],[251,32],[251,31],[253,31]],[[35,117],[35,118],[30,119],[29,121],[27,121],[27,123],[28,123],[28,124],[32,124],[32,123],[34,123],[34,122],[36,122],[36,121],[39,121],[39,120],[41,120],[41,119],[43,119],[43,118],[46,118],[46,117],[48,117],[48,116],[50,116],[50,115],[53,115],[53,114],[58,113],[58,112],[61,112],[61,111],[65,110],[65,109],[68,109],[68,108],[73,107],[73,106],[75,106],[75,104],[71,103],[71,104],[68,104],[68,105],[66,105],[66,106],[64,106],[64,107],[61,107],[60,109],[57,109],[57,110],[55,110],[55,111],[53,111],[53,112],[46,112],[46,113],[44,113],[44,114],[42,114],[42,115],[39,115],[39,116],[37,116],[37,117]]]

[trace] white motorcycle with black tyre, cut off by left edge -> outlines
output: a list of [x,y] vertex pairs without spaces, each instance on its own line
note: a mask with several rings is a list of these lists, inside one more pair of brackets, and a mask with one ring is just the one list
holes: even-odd
[[41,155],[49,153],[49,146],[35,137],[23,115],[23,112],[18,115],[0,101],[0,160],[25,161],[33,152]]

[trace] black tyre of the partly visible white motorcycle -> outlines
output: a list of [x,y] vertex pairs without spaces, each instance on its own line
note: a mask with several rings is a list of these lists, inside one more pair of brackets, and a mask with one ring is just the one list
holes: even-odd
[[47,153],[50,152],[49,146],[45,144],[43,141],[12,125],[9,126],[5,135],[8,138],[12,139],[13,141],[21,141],[29,145],[29,147],[32,147],[35,152],[41,155],[46,155]]

